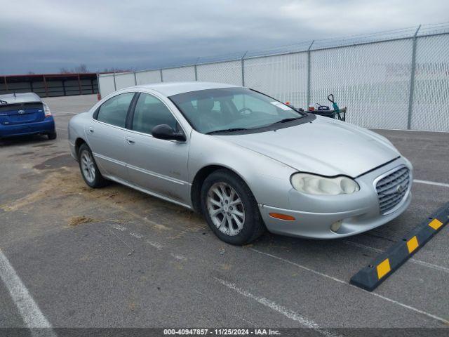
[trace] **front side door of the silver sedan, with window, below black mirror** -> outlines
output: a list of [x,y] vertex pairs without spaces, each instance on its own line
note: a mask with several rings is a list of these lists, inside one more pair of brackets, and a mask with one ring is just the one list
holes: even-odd
[[182,204],[189,204],[187,184],[188,142],[162,140],[152,136],[152,128],[180,124],[162,100],[140,93],[126,135],[128,176],[140,187]]

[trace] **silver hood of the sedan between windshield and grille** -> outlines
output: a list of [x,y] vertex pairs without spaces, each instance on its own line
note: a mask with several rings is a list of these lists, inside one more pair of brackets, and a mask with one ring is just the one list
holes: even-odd
[[387,138],[326,117],[276,131],[217,137],[323,176],[355,178],[401,155]]

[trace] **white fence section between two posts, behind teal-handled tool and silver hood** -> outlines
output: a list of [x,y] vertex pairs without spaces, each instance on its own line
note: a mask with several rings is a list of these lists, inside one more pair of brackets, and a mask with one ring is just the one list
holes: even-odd
[[406,129],[412,40],[311,51],[311,103],[330,105],[366,128]]

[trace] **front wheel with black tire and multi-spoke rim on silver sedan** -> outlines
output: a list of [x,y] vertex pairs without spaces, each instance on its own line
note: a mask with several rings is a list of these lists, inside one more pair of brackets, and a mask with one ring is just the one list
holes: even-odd
[[[250,188],[227,169],[214,171],[204,180],[201,186],[201,211],[210,229],[228,244],[249,244],[265,231],[257,201]],[[229,221],[232,228],[229,227]]]

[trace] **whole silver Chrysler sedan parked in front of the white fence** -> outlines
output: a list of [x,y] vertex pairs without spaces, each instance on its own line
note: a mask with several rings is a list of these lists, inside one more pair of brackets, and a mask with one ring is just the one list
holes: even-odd
[[69,122],[91,187],[113,180],[198,211],[229,244],[347,237],[410,204],[413,169],[377,133],[228,84],[116,91]]

